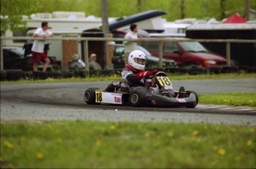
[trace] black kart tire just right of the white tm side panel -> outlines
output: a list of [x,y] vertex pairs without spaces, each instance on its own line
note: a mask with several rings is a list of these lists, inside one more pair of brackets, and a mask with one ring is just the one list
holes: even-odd
[[134,107],[142,107],[145,105],[145,91],[144,90],[134,90],[131,92],[129,97],[129,102]]

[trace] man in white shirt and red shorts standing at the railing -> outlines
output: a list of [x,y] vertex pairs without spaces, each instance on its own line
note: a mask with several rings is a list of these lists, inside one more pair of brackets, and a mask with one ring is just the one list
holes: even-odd
[[[48,23],[47,21],[42,22],[42,27],[38,28],[35,33],[33,33],[33,37],[53,37],[53,33],[48,30]],[[43,72],[47,70],[48,64],[50,64],[50,59],[48,59],[45,51],[45,40],[35,40],[32,46],[32,57],[33,57],[33,71],[37,71],[39,63],[42,59],[45,60],[45,64],[43,67]]]

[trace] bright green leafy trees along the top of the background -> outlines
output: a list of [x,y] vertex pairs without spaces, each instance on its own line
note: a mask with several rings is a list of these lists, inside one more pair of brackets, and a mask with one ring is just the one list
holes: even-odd
[[[101,16],[100,0],[1,0],[1,31],[26,27],[22,15],[53,11],[82,11],[86,16]],[[168,21],[183,18],[222,20],[233,13],[244,14],[245,0],[108,0],[108,16],[131,16],[146,10],[163,10]],[[256,10],[256,0],[250,0]]]

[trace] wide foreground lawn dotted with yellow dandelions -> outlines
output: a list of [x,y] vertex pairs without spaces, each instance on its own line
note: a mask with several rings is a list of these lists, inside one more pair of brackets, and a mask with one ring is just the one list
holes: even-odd
[[255,168],[256,127],[1,122],[1,168]]

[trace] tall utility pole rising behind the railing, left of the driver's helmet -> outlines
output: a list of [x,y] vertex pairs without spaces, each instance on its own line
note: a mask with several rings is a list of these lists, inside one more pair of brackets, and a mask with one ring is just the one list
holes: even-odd
[[[102,31],[104,33],[104,37],[111,37],[111,34],[109,33],[109,25],[108,25],[108,0],[101,0],[102,4]],[[113,67],[112,64],[112,57],[110,52],[110,47],[108,45],[108,42],[104,42],[104,51],[105,51],[105,62],[106,62],[106,68],[110,69]]]

